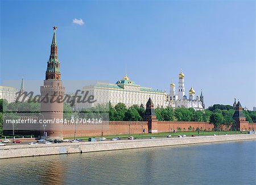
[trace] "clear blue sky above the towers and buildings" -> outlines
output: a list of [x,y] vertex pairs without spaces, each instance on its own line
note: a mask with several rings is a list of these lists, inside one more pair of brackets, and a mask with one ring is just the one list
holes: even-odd
[[256,106],[255,1],[1,1],[0,84],[43,84],[55,25],[63,80],[115,83],[127,65],[135,83],[169,91],[182,69],[207,107]]

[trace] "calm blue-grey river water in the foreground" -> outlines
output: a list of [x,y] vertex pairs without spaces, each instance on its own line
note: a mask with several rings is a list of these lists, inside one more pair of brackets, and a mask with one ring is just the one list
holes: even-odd
[[0,184],[256,184],[256,141],[0,160]]

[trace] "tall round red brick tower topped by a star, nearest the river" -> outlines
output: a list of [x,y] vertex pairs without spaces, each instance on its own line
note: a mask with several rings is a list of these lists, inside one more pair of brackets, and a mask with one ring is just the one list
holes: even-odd
[[[44,80],[44,85],[40,88],[42,118],[48,121],[48,123],[44,124],[46,125],[47,138],[63,138],[63,102],[61,100],[65,93],[65,87],[62,86],[62,81],[60,80],[56,29],[56,26],[53,27],[54,33],[51,54],[47,62],[46,79]],[[49,120],[52,122],[49,123]]]

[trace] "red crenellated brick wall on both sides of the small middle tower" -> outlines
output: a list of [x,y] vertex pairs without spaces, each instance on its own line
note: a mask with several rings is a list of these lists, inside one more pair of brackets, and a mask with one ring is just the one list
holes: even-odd
[[[102,123],[93,124],[69,122],[63,124],[63,137],[73,137],[75,131],[77,137],[101,136],[102,132],[104,135],[128,134],[129,132],[130,134],[137,134],[141,133],[143,129],[145,133],[148,133],[147,124],[147,121],[102,121]],[[178,131],[179,128],[181,131],[192,131],[196,130],[196,128],[212,131],[214,126],[209,122],[158,121],[158,132]]]

